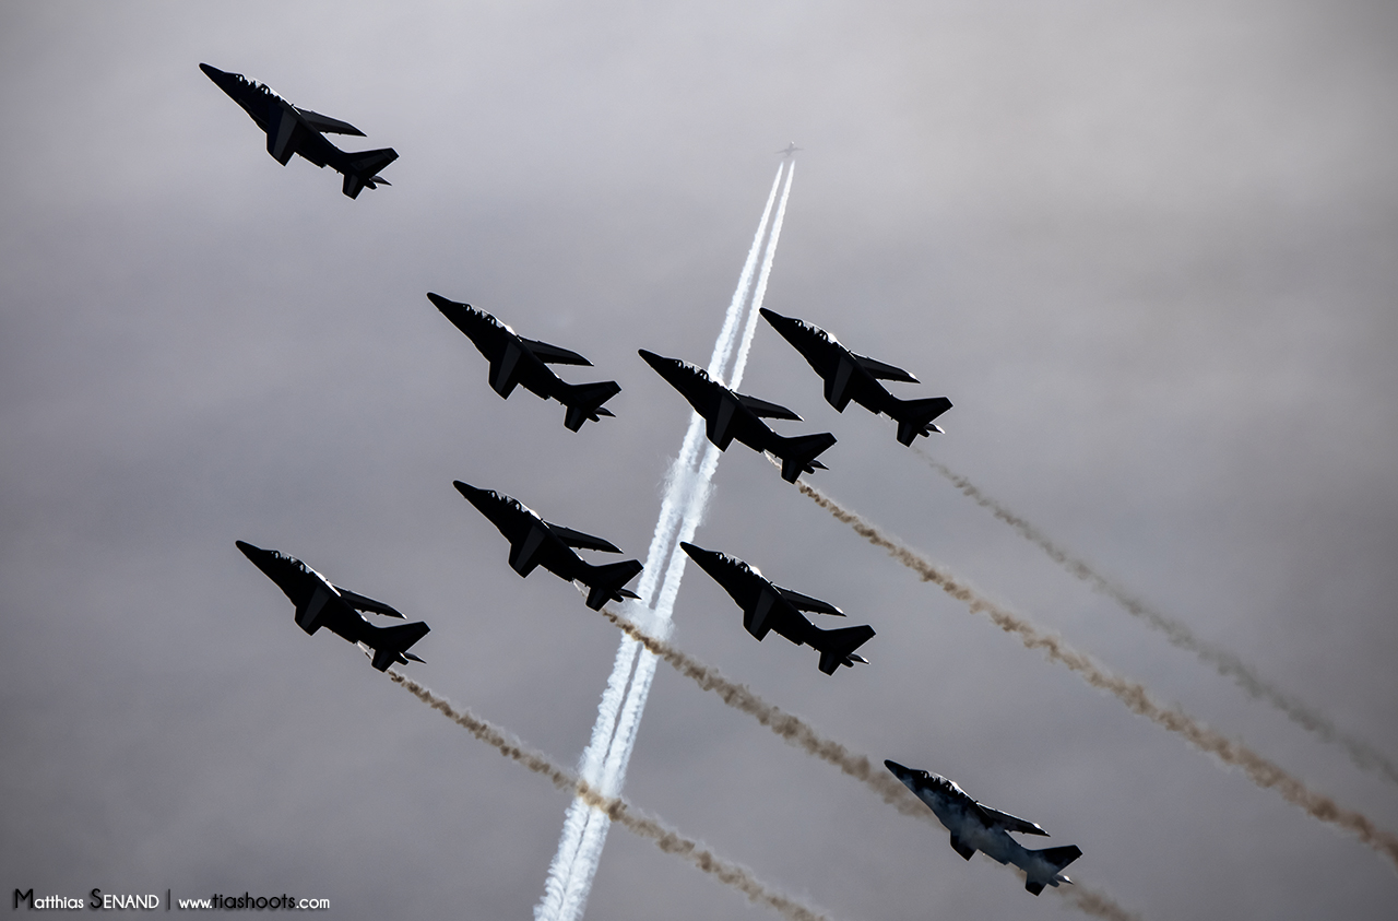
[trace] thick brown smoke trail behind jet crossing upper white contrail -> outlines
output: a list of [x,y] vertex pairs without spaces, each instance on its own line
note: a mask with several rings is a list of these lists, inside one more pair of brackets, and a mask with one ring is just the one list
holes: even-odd
[[1093,688],[1113,695],[1131,713],[1146,717],[1172,732],[1183,735],[1191,745],[1202,752],[1216,755],[1226,764],[1243,769],[1243,773],[1254,784],[1264,790],[1276,790],[1283,799],[1300,806],[1311,818],[1352,832],[1360,841],[1391,860],[1395,869],[1398,869],[1398,836],[1378,829],[1367,816],[1341,808],[1329,797],[1314,792],[1282,767],[1267,760],[1241,742],[1236,742],[1222,732],[1208,728],[1179,707],[1160,706],[1146,693],[1145,686],[1141,683],[1111,675],[1088,655],[1064,643],[1061,637],[1040,632],[1028,621],[981,597],[970,586],[956,580],[951,573],[944,572],[907,546],[885,537],[882,531],[861,516],[840,506],[814,486],[797,481],[797,488],[814,499],[822,509],[854,528],[870,544],[882,546],[893,559],[921,576],[923,581],[934,583],[952,598],[965,602],[972,609],[972,614],[984,614],[1001,630],[1015,633],[1026,648],[1040,650],[1050,661],[1067,665]]

